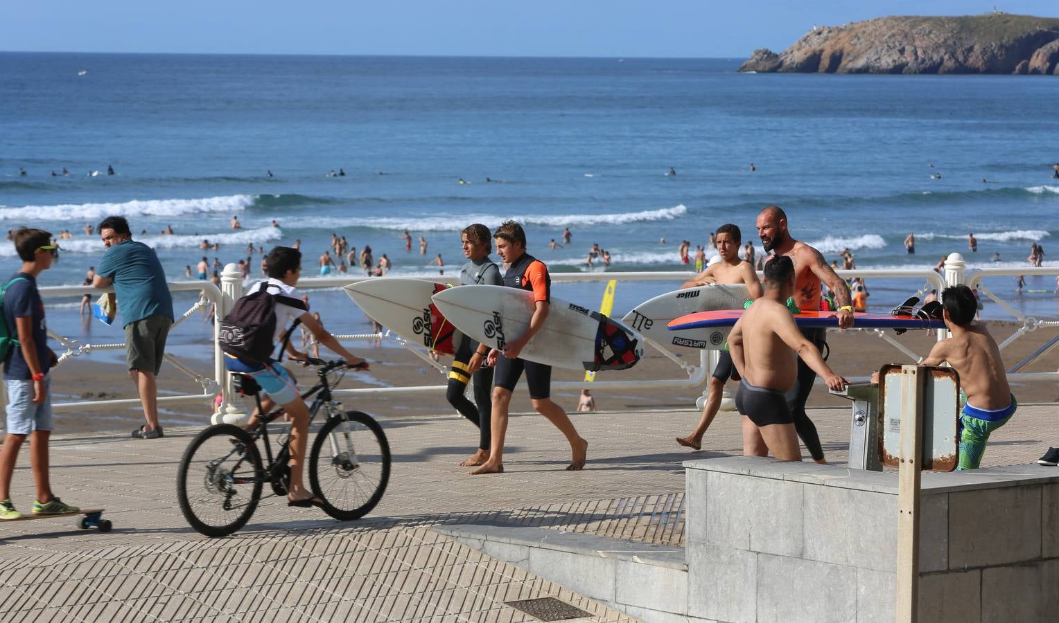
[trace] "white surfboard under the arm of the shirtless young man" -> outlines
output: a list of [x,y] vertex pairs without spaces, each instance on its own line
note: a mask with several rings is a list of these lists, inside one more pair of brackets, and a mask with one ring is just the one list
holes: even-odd
[[686,290],[674,290],[641,303],[622,318],[633,331],[661,346],[680,346],[720,350],[728,340],[729,328],[702,328],[670,331],[669,320],[684,314],[722,309],[742,309],[750,298],[742,283],[713,283]]

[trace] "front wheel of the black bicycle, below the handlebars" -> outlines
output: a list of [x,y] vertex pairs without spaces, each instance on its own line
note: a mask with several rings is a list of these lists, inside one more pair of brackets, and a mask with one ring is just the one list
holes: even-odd
[[390,481],[390,443],[367,414],[343,411],[324,423],[309,455],[312,493],[325,513],[348,521],[370,513]]

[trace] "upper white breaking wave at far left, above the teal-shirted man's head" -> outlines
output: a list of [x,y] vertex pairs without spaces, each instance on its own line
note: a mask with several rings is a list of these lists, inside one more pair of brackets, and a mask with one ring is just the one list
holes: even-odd
[[108,216],[178,217],[190,214],[241,212],[253,202],[253,195],[232,195],[203,199],[133,200],[124,203],[23,205],[0,209],[0,220],[23,222],[47,220],[82,223],[96,222]]

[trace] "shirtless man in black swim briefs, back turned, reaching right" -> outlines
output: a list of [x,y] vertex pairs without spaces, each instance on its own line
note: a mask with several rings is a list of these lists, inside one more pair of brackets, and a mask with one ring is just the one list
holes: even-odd
[[[831,389],[842,390],[848,383],[827,367],[820,349],[798,331],[787,309],[787,298],[795,293],[794,267],[789,255],[773,257],[765,264],[765,293],[743,312],[729,335],[732,362],[742,377],[735,405],[743,416],[746,456],[764,457],[771,451],[782,461],[802,460],[788,396],[795,389],[803,362]],[[797,366],[790,356],[792,350],[798,355]]]

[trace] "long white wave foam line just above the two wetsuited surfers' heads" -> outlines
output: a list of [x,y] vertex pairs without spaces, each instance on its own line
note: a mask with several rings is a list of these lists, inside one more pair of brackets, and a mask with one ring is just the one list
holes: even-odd
[[[539,225],[549,227],[572,227],[588,225],[621,225],[641,221],[672,220],[687,214],[683,204],[660,209],[627,212],[617,214],[572,214],[572,215],[519,215],[510,218],[522,225]],[[452,232],[454,222],[482,223],[491,228],[497,227],[506,218],[486,214],[447,214],[447,215],[413,215],[408,217],[354,217],[341,219],[315,219],[313,226],[322,230],[338,230],[340,227],[372,227],[376,230],[393,230],[395,232]],[[307,223],[303,223],[303,226]]]

